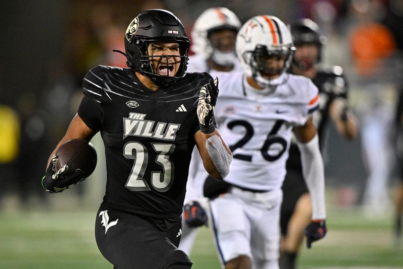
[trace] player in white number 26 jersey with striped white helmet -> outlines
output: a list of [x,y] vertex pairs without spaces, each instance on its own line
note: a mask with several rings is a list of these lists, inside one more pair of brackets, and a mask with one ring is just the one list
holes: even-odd
[[244,72],[220,76],[216,121],[233,161],[226,189],[217,192],[210,185],[215,190],[210,209],[226,269],[279,268],[281,186],[292,132],[312,197],[308,247],[326,234],[323,161],[312,122],[318,89],[309,79],[285,72],[294,50],[290,30],[280,19],[253,17],[236,38]]

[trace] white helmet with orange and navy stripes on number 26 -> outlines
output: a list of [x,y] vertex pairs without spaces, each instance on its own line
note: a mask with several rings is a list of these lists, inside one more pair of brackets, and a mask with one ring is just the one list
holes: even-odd
[[[275,16],[256,16],[248,20],[239,30],[236,37],[236,53],[248,77],[252,77],[261,87],[283,84],[288,75],[295,47],[288,27]],[[267,71],[259,64],[257,57],[282,55],[285,56],[284,68],[271,70],[278,74],[276,79],[264,78],[260,73]]]

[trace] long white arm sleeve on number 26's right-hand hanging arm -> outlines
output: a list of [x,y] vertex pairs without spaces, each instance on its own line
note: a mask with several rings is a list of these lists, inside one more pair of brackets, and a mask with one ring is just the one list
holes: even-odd
[[324,198],[324,168],[318,135],[307,143],[297,142],[301,152],[302,173],[312,202],[312,219],[326,218]]

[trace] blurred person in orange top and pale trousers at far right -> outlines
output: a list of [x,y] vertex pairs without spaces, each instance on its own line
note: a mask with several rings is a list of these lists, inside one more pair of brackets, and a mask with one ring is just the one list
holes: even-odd
[[390,208],[388,178],[391,145],[385,138],[391,124],[390,94],[394,91],[392,60],[396,43],[390,30],[379,21],[385,14],[382,2],[353,0],[351,12],[356,25],[350,32],[350,48],[357,87],[364,89],[361,111],[362,146],[368,177],[363,206],[369,217],[381,216]]

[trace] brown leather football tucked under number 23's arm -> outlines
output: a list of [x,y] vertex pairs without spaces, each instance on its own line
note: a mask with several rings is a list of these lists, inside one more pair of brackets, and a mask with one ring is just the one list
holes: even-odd
[[94,172],[97,165],[97,152],[94,146],[84,139],[72,139],[62,144],[56,151],[56,170],[68,164],[65,172],[68,176],[77,169],[81,169],[82,176],[87,178]]

